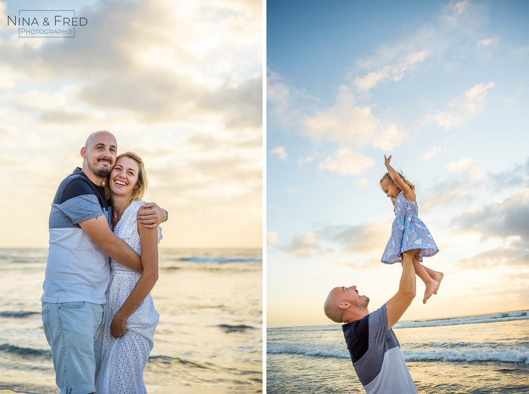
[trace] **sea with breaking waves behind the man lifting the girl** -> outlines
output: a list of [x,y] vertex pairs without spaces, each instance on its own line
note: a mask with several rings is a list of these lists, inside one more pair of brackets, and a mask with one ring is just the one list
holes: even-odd
[[[399,322],[393,331],[419,393],[529,393],[529,311]],[[365,393],[342,327],[267,329],[267,393]]]

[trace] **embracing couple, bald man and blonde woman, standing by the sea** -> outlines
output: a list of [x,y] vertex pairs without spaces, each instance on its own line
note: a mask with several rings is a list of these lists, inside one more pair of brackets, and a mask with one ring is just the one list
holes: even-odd
[[81,157],[50,213],[41,301],[56,384],[68,394],[146,393],[143,368],[159,317],[149,293],[167,211],[141,201],[143,161],[117,156],[110,132],[90,135]]

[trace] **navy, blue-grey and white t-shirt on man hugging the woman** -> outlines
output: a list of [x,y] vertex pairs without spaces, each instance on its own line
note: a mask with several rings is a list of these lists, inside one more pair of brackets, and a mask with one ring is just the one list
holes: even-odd
[[76,168],[61,182],[53,200],[41,301],[105,304],[109,259],[79,226],[81,221],[101,215],[110,226],[105,191]]

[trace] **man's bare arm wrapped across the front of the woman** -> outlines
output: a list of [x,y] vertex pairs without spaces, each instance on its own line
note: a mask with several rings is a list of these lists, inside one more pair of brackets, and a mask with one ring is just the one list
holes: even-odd
[[112,257],[119,264],[132,268],[139,273],[143,271],[141,258],[138,253],[134,252],[123,239],[112,233],[107,219],[103,215],[81,221],[79,226],[105,252],[105,255]]

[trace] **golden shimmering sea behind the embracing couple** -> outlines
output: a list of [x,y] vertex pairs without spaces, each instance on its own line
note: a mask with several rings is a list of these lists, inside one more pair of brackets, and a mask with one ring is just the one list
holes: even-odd
[[[41,321],[48,249],[0,249],[0,391],[59,393]],[[152,394],[262,393],[260,249],[162,249]]]

